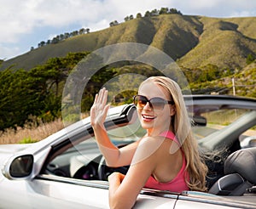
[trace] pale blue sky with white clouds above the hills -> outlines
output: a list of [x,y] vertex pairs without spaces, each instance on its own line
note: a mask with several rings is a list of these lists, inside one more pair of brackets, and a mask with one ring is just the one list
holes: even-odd
[[[207,17],[255,17],[255,0],[0,0],[0,59],[7,60],[65,32],[108,28],[154,8]],[[256,29],[255,29],[256,31]]]

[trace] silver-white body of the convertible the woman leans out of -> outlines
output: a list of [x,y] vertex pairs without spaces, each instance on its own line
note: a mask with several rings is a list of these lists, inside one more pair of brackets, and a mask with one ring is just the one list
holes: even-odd
[[[209,104],[209,108],[212,107],[212,101],[215,101],[216,104],[224,102],[224,100],[216,98],[213,100],[209,98],[208,100],[203,101],[206,108],[207,104]],[[239,100],[234,101],[234,103],[231,102],[230,105],[238,105],[238,102]],[[253,121],[253,117],[256,118],[256,100],[252,99],[247,103],[242,102],[246,104],[247,108],[252,109],[252,118],[248,118],[248,121]],[[201,104],[201,99],[195,99],[193,105],[196,106],[197,103]],[[188,106],[191,105],[189,102],[187,104]],[[119,121],[123,117],[121,113],[126,109],[134,111],[132,105],[113,108],[109,113],[108,120],[117,124],[115,120]],[[127,115],[129,114],[125,113],[125,116]],[[122,124],[122,120],[118,124]],[[129,120],[132,121],[131,117]],[[254,125],[251,123],[250,126],[256,125],[256,121]],[[112,126],[110,129],[115,130],[113,124],[108,126]],[[80,136],[81,134],[82,136]],[[84,159],[79,160],[81,158],[79,155],[68,158],[68,165],[71,161],[74,161],[68,167],[70,172],[68,175],[70,176],[64,177],[56,175],[57,172],[54,173],[58,167],[56,166],[57,163],[53,165],[53,162],[65,163],[66,161],[61,160],[62,152],[64,153],[64,150],[67,150],[66,147],[73,148],[74,146],[79,149],[79,147],[76,147],[78,136],[85,141],[91,137],[91,134],[90,119],[86,118],[35,144],[0,145],[0,208],[108,208],[107,181],[72,178],[74,173],[86,161]],[[212,134],[216,135],[218,133]],[[209,135],[207,137],[209,138]],[[206,144],[205,141],[199,142]],[[215,147],[219,143],[217,141],[210,142],[208,146]],[[89,152],[90,159],[95,157],[95,149],[93,148],[93,152]],[[87,150],[85,149],[85,151]],[[30,160],[32,160],[31,169],[28,163]],[[28,165],[28,168],[22,167],[24,163]],[[52,173],[45,172],[47,169],[49,170],[49,167],[52,168]],[[22,175],[22,169],[27,169],[28,173]],[[253,196],[253,194],[241,198],[193,191],[183,191],[182,194],[175,194],[154,189],[143,189],[137,197],[134,208],[256,208],[255,205],[256,195]]]

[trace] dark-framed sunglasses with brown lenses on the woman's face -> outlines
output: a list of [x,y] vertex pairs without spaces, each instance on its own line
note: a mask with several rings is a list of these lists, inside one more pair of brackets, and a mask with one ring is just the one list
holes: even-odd
[[154,97],[151,99],[148,99],[142,95],[135,95],[133,97],[133,104],[135,104],[139,109],[143,109],[147,103],[149,104],[150,108],[154,110],[163,110],[166,104],[174,104],[173,101],[167,101],[166,99],[162,99],[160,97]]

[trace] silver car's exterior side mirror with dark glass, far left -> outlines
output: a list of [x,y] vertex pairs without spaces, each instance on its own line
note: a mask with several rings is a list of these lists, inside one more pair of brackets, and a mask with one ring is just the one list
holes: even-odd
[[3,174],[9,179],[26,178],[32,173],[33,155],[16,156],[3,168]]

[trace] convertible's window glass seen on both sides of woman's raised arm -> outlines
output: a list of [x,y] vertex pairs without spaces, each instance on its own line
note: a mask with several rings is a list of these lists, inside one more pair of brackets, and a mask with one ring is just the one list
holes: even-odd
[[[113,144],[120,146],[130,144],[145,134],[145,130],[139,124],[137,115],[135,115],[129,124],[112,126],[108,130],[108,136]],[[59,153],[49,161],[46,173],[67,178],[102,180],[98,173],[99,165],[102,164],[102,154],[98,149],[96,139],[84,137],[77,138],[76,141],[67,144],[68,149],[62,148],[64,151],[56,151]]]

